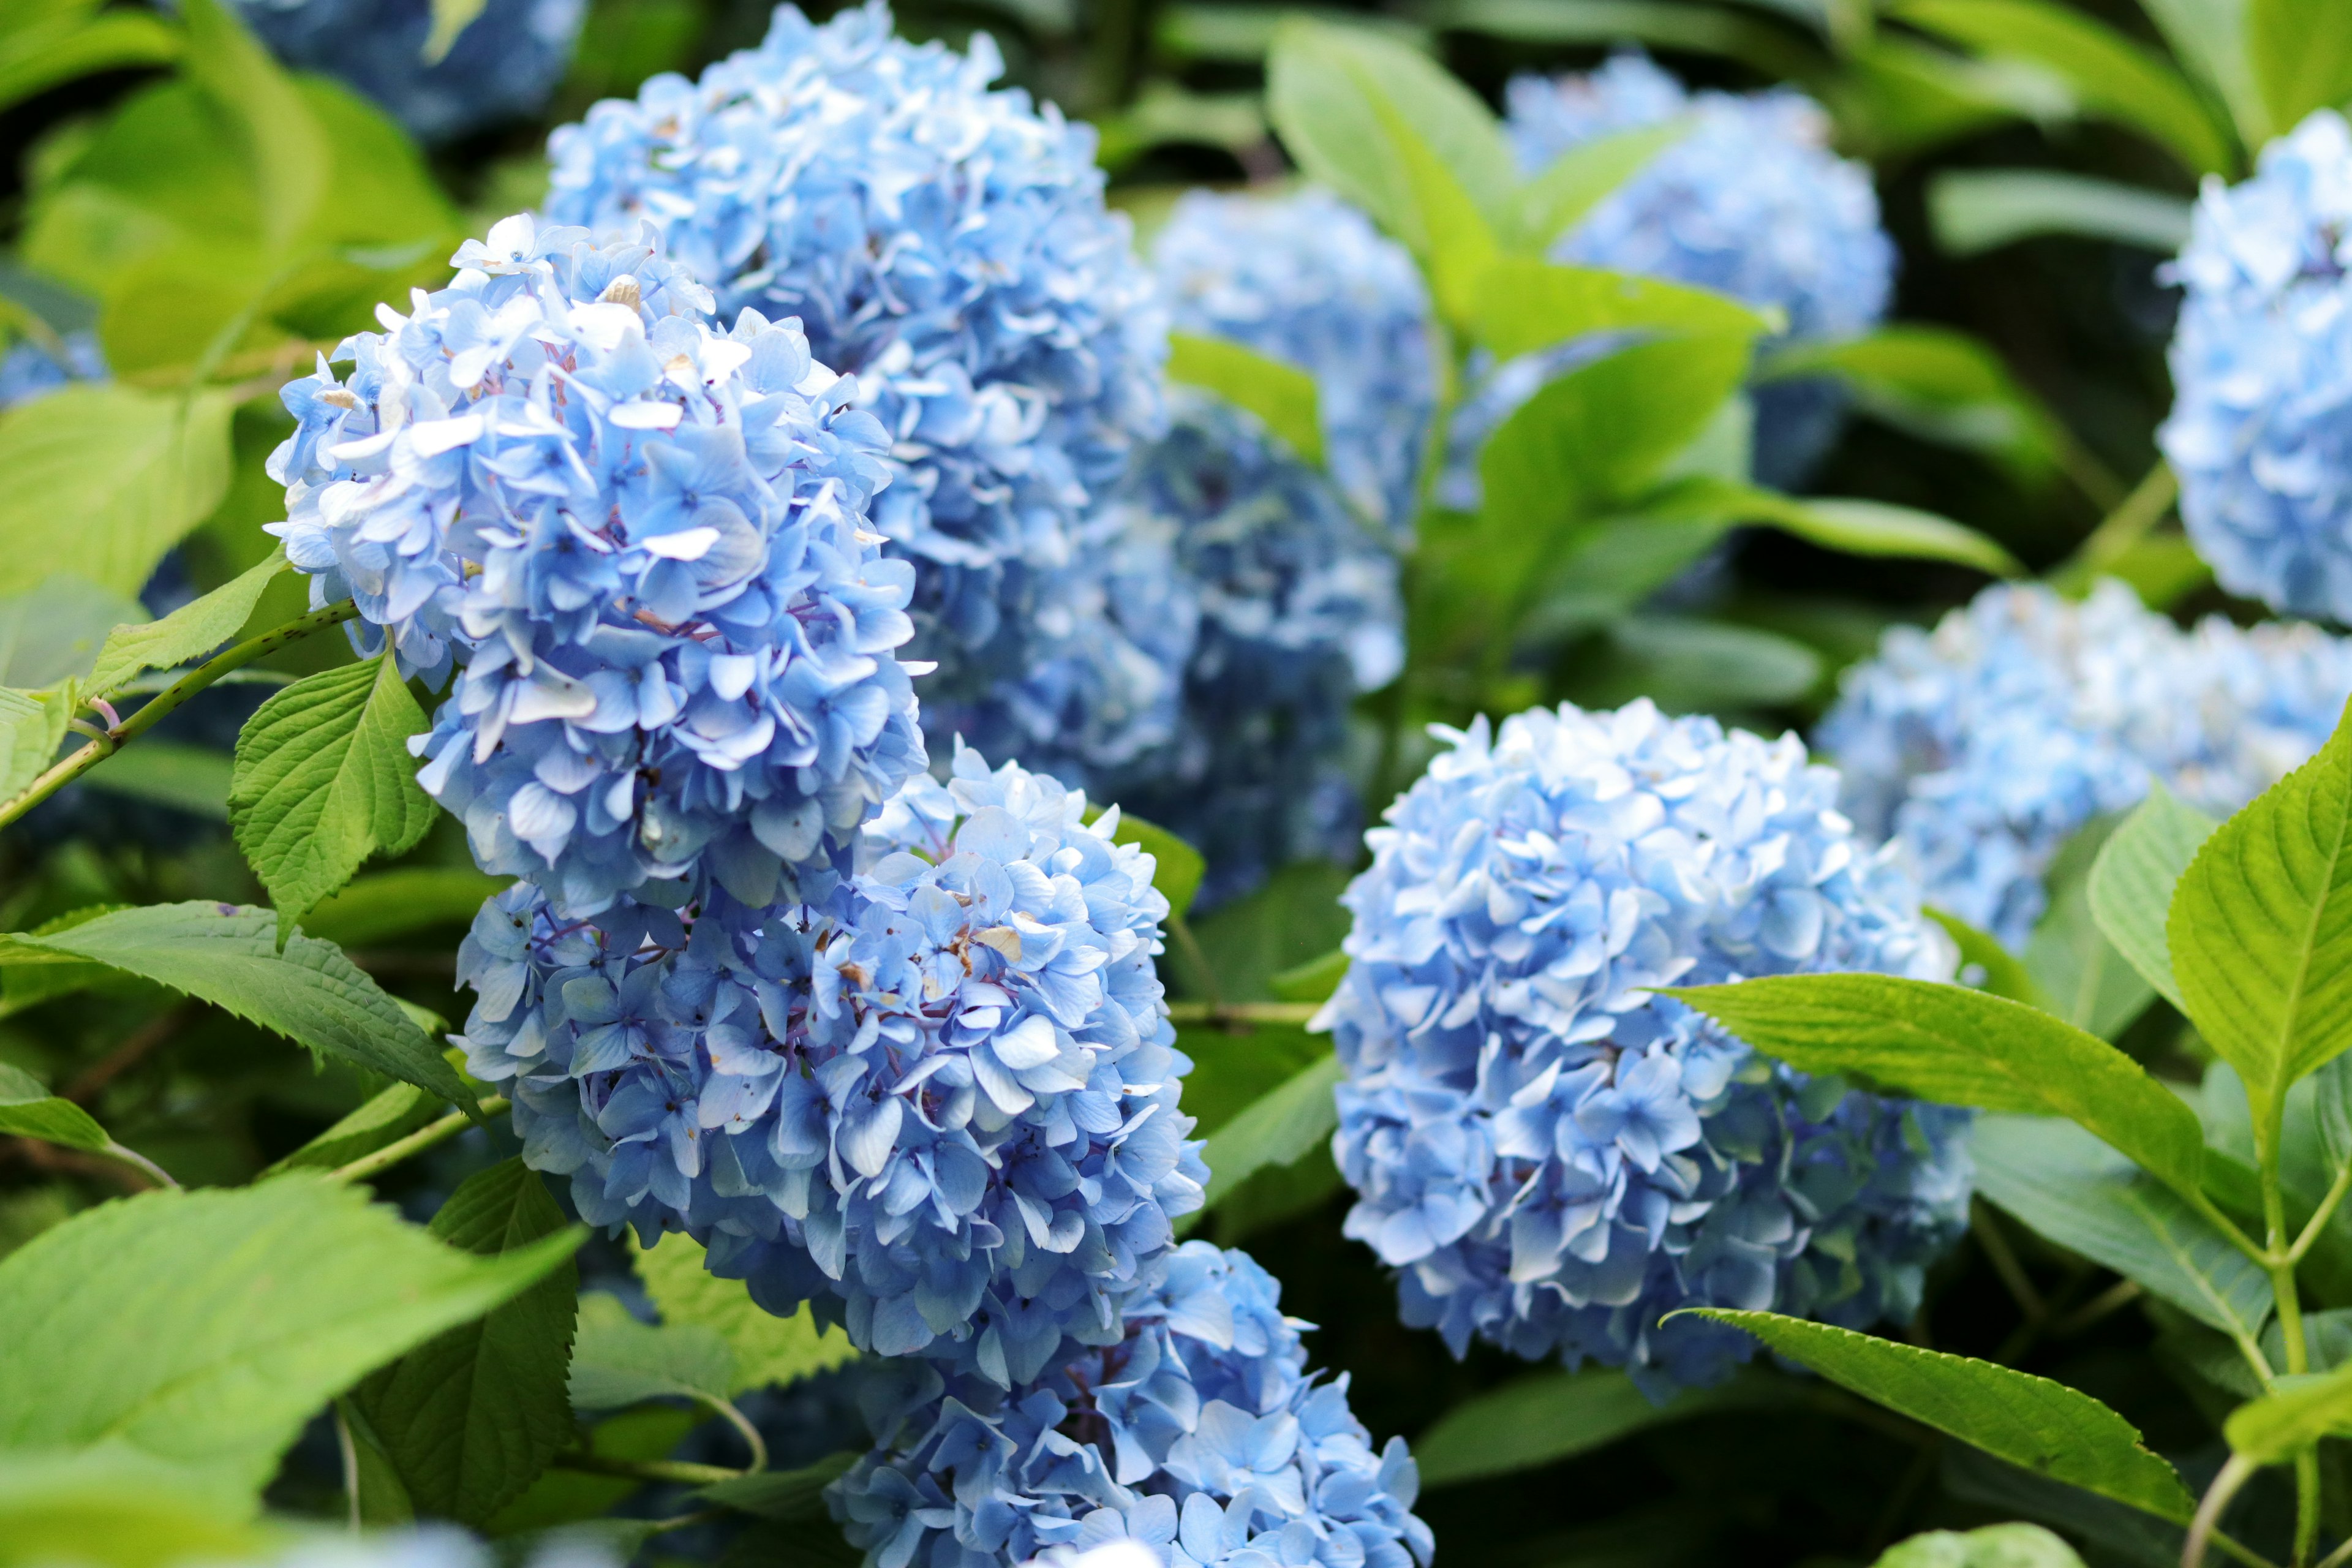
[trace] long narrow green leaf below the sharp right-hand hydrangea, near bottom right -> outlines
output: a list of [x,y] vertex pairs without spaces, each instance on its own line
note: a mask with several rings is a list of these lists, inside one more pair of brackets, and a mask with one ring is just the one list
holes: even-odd
[[1696,1312],[1745,1328],[1766,1349],[1830,1382],[2034,1474],[2176,1523],[2197,1509],[2180,1474],[2140,1443],[2131,1422],[2063,1382],[1776,1312]]

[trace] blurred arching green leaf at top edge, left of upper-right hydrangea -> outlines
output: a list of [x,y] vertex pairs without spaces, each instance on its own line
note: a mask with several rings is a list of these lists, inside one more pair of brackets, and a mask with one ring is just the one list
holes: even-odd
[[2237,167],[2230,132],[2197,89],[2154,49],[2084,12],[2044,0],[1903,0],[1896,14],[1983,54],[2053,71],[2086,113],[2140,132],[2190,174]]

